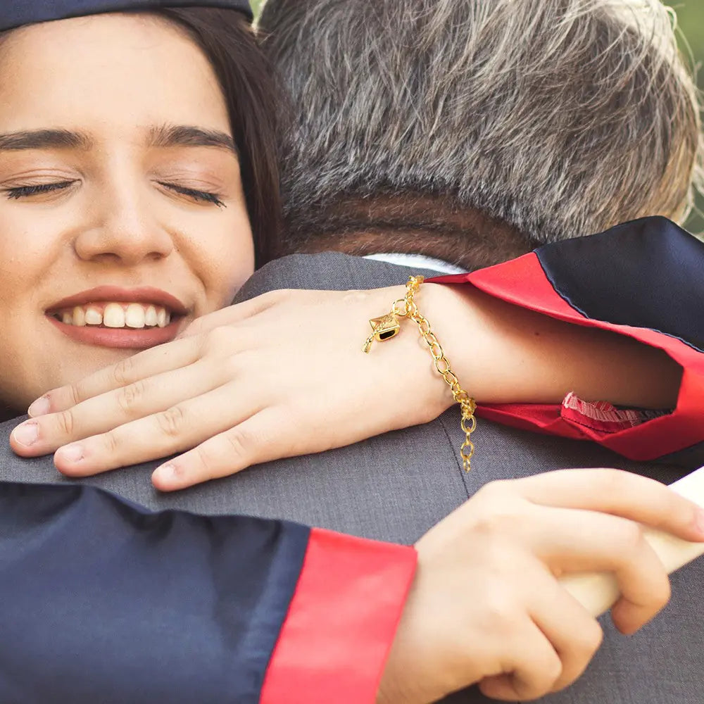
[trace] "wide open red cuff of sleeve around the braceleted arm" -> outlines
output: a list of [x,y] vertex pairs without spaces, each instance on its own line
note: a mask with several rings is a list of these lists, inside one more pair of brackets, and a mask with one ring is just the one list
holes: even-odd
[[477,415],[521,429],[591,440],[636,461],[655,460],[704,442],[704,354],[657,330],[586,318],[555,291],[535,253],[469,274],[429,280],[439,284],[472,284],[486,294],[551,318],[632,337],[662,349],[684,370],[677,408],[672,413],[617,432],[600,432],[582,425],[557,405],[479,406]]

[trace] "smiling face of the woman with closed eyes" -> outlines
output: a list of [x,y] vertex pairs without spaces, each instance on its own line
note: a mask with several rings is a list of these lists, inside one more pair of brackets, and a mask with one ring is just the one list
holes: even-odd
[[173,339],[253,271],[225,99],[155,15],[0,42],[0,394],[45,391]]

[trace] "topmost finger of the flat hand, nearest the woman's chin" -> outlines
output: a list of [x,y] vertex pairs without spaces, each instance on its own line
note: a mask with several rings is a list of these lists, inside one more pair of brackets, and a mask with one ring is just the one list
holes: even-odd
[[107,391],[134,384],[161,372],[185,367],[196,361],[200,348],[198,338],[189,338],[175,340],[144,350],[132,357],[126,357],[117,364],[104,367],[75,384],[49,391],[32,403],[30,416],[60,413]]

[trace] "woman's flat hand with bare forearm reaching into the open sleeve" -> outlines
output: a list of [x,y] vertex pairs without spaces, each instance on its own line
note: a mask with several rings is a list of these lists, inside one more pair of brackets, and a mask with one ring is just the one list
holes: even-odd
[[[427,422],[451,406],[416,325],[365,355],[368,320],[403,298],[371,291],[275,291],[196,320],[181,339],[50,391],[11,446],[56,451],[82,477],[184,453],[158,467],[170,491],[250,465]],[[453,372],[482,403],[582,398],[668,408],[680,367],[626,337],[552,320],[474,287],[416,296]]]

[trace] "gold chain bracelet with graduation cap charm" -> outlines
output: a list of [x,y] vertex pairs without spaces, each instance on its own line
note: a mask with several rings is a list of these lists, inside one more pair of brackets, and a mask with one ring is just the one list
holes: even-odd
[[467,394],[467,391],[460,386],[460,381],[451,370],[450,363],[445,353],[442,351],[442,347],[435,337],[435,333],[430,329],[430,323],[426,318],[423,318],[418,311],[414,297],[418,289],[420,289],[420,284],[424,281],[425,278],[422,276],[411,276],[408,278],[408,282],[406,283],[406,296],[399,298],[398,301],[394,301],[393,306],[391,306],[391,313],[382,315],[381,318],[372,318],[372,320],[369,321],[369,324],[372,326],[372,334],[367,337],[362,349],[365,354],[369,354],[375,340],[377,342],[386,342],[386,340],[396,337],[401,330],[401,324],[398,322],[398,318],[409,318],[416,323],[420,330],[421,337],[430,348],[436,370],[438,370],[450,387],[455,402],[460,404],[460,411],[462,413],[460,425],[465,434],[465,441],[462,447],[460,447],[460,455],[465,472],[469,472],[471,468],[470,460],[474,454],[474,443],[472,442],[471,435],[477,427],[477,419],[474,417],[474,410],[477,408],[477,403],[475,403],[474,398]]

